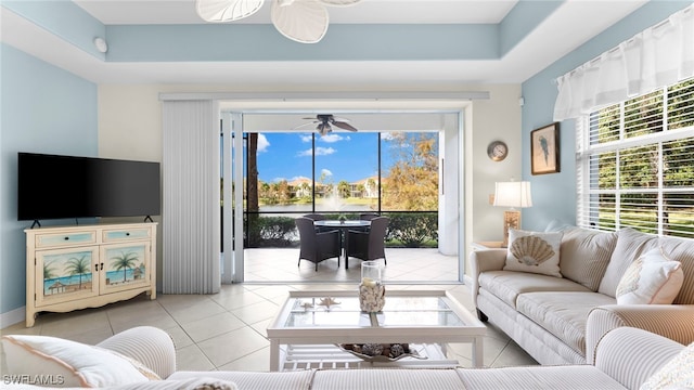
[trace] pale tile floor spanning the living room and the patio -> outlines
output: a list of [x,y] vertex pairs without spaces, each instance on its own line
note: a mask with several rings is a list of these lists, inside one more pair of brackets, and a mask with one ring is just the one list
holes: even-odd
[[[262,253],[268,255],[268,253]],[[386,268],[387,285],[394,289],[447,289],[468,309],[474,309],[468,286],[446,280],[457,276],[457,258],[450,261],[433,261],[423,252],[411,255],[389,253]],[[430,255],[430,253],[429,253]],[[296,266],[268,266],[247,257],[246,272],[268,276],[271,272],[284,273],[284,278],[294,274],[305,275],[293,283],[279,283],[265,278],[264,283],[222,285],[215,295],[162,295],[156,300],[139,296],[128,301],[112,303],[103,308],[85,309],[70,313],[44,313],[38,316],[36,325],[26,328],[23,323],[1,330],[2,334],[33,334],[67,338],[80,342],[95,343],[118,332],[138,326],[151,325],[168,332],[177,348],[178,368],[184,370],[268,370],[270,365],[270,342],[266,338],[266,327],[279,310],[288,290],[301,289],[348,289],[355,288],[360,272],[359,261],[350,261],[349,271],[344,263],[336,270],[331,261],[319,265],[318,276],[313,264],[301,261]],[[427,259],[422,260],[422,259]],[[275,264],[277,265],[277,264]],[[260,271],[265,270],[265,271]],[[406,270],[408,270],[406,272]],[[309,272],[310,271],[310,272]],[[336,272],[337,271],[337,272]],[[453,274],[451,274],[453,272]],[[333,281],[326,281],[330,276]],[[250,280],[246,277],[246,280]],[[325,283],[316,282],[322,280]],[[416,280],[408,284],[402,281]],[[426,281],[430,281],[429,284]],[[485,366],[514,366],[537,364],[515,342],[503,333],[488,326],[485,337]],[[472,365],[468,344],[452,344],[449,353],[462,366]],[[4,356],[2,356],[4,364]]]

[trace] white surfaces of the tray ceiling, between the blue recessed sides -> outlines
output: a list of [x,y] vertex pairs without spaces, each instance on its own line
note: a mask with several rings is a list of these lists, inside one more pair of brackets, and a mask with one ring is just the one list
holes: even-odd
[[[422,88],[523,82],[578,48],[646,0],[568,0],[506,55],[485,61],[344,62],[156,62],[114,63],[94,58],[31,22],[2,9],[3,41],[98,83],[215,83],[237,80],[247,88],[301,86],[320,90]],[[331,8],[332,23],[498,23],[516,1],[363,0]],[[79,0],[105,25],[200,23],[193,0]],[[269,4],[234,23],[269,23]],[[387,48],[384,48],[387,50]],[[239,88],[244,88],[235,82]]]

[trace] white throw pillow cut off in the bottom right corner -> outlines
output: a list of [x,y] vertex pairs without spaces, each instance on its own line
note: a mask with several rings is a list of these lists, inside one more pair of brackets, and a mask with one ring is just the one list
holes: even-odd
[[694,389],[694,342],[653,374],[640,390]]

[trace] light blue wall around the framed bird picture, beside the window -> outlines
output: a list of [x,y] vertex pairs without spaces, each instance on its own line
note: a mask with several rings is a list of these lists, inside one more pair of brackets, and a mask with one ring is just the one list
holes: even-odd
[[532,207],[523,210],[523,227],[544,230],[552,221],[576,223],[575,120],[560,123],[561,172],[530,174],[530,132],[553,122],[557,95],[554,80],[642,30],[692,4],[692,1],[647,2],[629,16],[556,61],[523,83],[523,180],[532,182]]

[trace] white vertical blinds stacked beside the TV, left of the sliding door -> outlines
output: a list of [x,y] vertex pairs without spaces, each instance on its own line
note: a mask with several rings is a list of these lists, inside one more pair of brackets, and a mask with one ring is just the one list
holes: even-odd
[[219,291],[219,108],[164,102],[163,292]]

